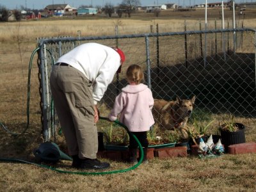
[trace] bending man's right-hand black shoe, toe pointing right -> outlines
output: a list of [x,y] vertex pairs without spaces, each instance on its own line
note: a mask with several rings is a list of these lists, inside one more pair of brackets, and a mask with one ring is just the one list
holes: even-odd
[[82,169],[95,169],[100,170],[104,168],[109,168],[110,164],[106,162],[100,162],[97,159],[81,159],[81,164],[79,168]]

